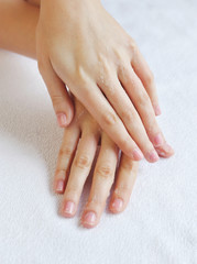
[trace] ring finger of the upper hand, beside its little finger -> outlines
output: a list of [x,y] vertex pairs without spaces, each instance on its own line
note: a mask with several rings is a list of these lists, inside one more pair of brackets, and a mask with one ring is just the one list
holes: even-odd
[[140,114],[149,139],[155,147],[162,147],[166,141],[156,122],[150,97],[141,80],[131,67],[128,67],[123,74],[120,72],[119,78]]

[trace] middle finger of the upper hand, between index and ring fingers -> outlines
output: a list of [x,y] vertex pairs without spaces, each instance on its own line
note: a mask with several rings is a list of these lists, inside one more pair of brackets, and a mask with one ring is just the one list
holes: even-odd
[[[110,87],[113,89],[111,92]],[[106,96],[110,98],[111,105],[117,109],[117,112],[125,124],[129,134],[140,147],[146,161],[151,163],[158,161],[158,155],[146,134],[142,120],[119,79],[114,77],[111,84],[110,81],[102,84],[102,89],[105,90]],[[123,102],[123,105],[121,102]]]

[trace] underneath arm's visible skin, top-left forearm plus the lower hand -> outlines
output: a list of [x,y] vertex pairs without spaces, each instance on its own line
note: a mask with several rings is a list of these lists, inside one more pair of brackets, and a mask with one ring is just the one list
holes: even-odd
[[[26,2],[0,0],[0,47],[36,58],[35,32],[39,15],[39,8]],[[118,213],[127,208],[136,178],[138,162],[121,153],[118,165],[118,146],[84,106],[76,98],[73,100],[75,117],[64,133],[55,172],[54,190],[63,194],[59,213],[63,217],[74,217],[100,140],[100,152],[96,158],[91,189],[80,220],[84,227],[92,228],[100,220],[113,184],[109,210]],[[166,143],[157,146],[156,152],[163,157],[169,157],[173,154]]]

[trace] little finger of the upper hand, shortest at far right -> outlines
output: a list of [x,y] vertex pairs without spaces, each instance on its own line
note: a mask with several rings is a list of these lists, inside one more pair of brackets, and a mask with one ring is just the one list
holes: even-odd
[[138,77],[141,79],[143,86],[145,87],[147,95],[150,96],[155,114],[161,114],[162,111],[158,106],[158,98],[153,73],[151,72],[146,61],[144,59],[139,48],[135,48],[131,65]]

